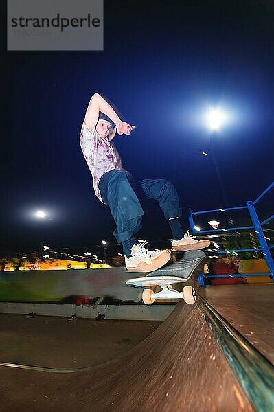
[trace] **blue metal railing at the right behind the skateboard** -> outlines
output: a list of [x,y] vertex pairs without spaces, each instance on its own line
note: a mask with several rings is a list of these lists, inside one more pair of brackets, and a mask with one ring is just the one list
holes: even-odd
[[[274,187],[274,182],[269,185],[269,187],[256,198],[255,201],[247,201],[246,206],[240,206],[240,207],[226,207],[224,209],[211,209],[211,210],[204,210],[204,211],[192,211],[190,209],[190,215],[189,215],[189,223],[190,223],[190,229],[192,230],[192,233],[194,234],[201,234],[201,233],[220,233],[222,231],[238,231],[238,230],[244,230],[244,229],[254,229],[254,232],[258,238],[258,242],[260,244],[260,248],[252,248],[252,249],[231,249],[231,250],[220,250],[220,251],[214,251],[216,254],[221,254],[221,253],[238,253],[238,252],[249,252],[249,251],[260,251],[264,255],[264,259],[266,260],[266,264],[269,267],[269,272],[268,273],[243,273],[243,274],[238,274],[238,275],[232,275],[232,274],[227,274],[227,275],[199,275],[199,283],[201,286],[205,285],[204,279],[210,279],[213,277],[248,277],[248,276],[262,276],[262,275],[269,275],[271,279],[274,282],[274,262],[273,258],[271,256],[270,250],[274,248],[273,245],[269,245],[266,242],[266,237],[264,236],[264,231],[262,229],[262,226],[266,225],[267,223],[271,222],[271,220],[274,219],[274,214],[269,216],[269,218],[266,218],[263,222],[260,222],[258,218],[257,211],[255,209],[255,204],[258,203],[263,196],[265,196],[269,190]],[[229,227],[229,228],[220,228],[220,229],[214,229],[214,230],[201,230],[201,231],[196,231],[195,225],[194,225],[194,217],[195,215],[198,214],[206,214],[206,213],[212,213],[212,212],[224,212],[224,211],[231,211],[231,210],[238,210],[238,209],[247,209],[249,211],[249,215],[251,217],[251,221],[253,223],[253,226],[242,226],[242,227]]]

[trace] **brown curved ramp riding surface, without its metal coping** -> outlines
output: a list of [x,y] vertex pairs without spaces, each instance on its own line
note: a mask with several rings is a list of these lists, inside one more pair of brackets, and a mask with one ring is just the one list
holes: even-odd
[[[81,350],[80,336],[76,345]],[[13,411],[252,411],[198,307],[183,302],[107,364],[73,374],[2,367],[1,374],[14,391],[3,391],[1,403]],[[25,391],[16,393],[16,381]]]

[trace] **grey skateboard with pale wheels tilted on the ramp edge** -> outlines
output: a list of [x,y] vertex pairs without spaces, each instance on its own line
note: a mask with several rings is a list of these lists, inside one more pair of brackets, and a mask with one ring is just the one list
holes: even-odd
[[159,286],[161,291],[158,293],[150,288],[143,290],[142,299],[146,305],[152,305],[156,299],[183,299],[186,304],[194,304],[196,294],[192,285],[184,286],[181,291],[178,291],[172,288],[172,284],[185,284],[191,277],[194,283],[194,275],[205,270],[203,263],[205,257],[205,253],[201,250],[187,251],[178,262],[150,272],[145,277],[128,279],[126,285],[141,288]]

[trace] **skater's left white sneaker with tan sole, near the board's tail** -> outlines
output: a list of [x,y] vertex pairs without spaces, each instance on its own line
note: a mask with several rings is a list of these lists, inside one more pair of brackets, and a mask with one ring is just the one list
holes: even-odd
[[126,268],[129,272],[152,272],[161,268],[170,260],[170,253],[165,251],[149,251],[144,246],[146,240],[139,240],[139,243],[133,244],[130,258],[125,258]]

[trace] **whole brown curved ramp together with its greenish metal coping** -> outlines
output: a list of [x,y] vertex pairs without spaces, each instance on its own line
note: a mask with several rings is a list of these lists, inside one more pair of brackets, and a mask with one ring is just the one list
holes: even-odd
[[23,381],[25,391],[3,391],[9,410],[231,412],[274,405],[273,365],[202,297],[177,304],[148,338],[104,365],[72,374],[14,366],[1,374],[14,388]]

